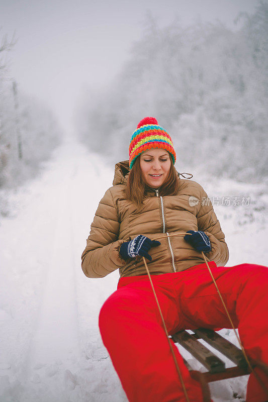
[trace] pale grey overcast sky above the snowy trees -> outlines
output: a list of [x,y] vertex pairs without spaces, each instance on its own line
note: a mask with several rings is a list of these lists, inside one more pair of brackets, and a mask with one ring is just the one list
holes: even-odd
[[237,29],[239,12],[253,13],[258,0],[0,0],[0,37],[17,43],[10,74],[26,93],[49,104],[64,126],[85,86],[111,82],[142,36],[145,16],[160,27],[180,18],[183,26],[220,20]]

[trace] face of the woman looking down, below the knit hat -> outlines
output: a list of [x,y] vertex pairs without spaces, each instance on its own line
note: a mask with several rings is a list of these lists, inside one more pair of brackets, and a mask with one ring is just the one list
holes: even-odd
[[167,179],[171,161],[169,153],[161,148],[151,148],[140,156],[140,167],[145,183],[152,187],[160,187]]

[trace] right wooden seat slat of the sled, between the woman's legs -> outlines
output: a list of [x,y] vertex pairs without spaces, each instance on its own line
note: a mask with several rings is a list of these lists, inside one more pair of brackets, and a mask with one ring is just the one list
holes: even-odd
[[231,342],[227,341],[216,332],[204,328],[194,331],[196,335],[206,341],[213,348],[221,352],[224,356],[228,357],[238,367],[245,369],[247,367],[246,360],[243,356],[241,349],[237,348]]

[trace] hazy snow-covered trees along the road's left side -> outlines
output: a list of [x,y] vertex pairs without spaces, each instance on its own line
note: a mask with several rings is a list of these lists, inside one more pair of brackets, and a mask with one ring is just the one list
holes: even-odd
[[[13,44],[5,36],[0,56]],[[60,136],[52,112],[18,89],[5,58],[0,58],[0,187],[33,177],[59,144]]]

